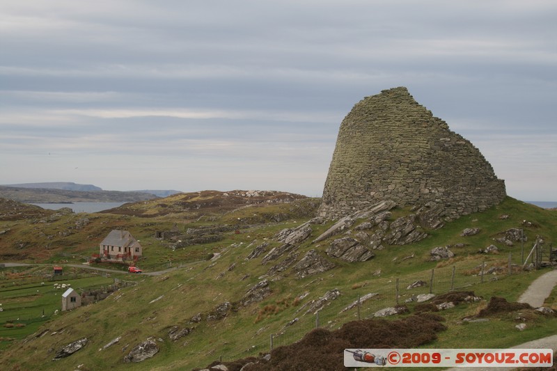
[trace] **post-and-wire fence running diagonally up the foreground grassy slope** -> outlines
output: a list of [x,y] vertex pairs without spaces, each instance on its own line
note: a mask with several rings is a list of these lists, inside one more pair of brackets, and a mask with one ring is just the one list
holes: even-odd
[[416,301],[421,294],[472,291],[474,285],[504,280],[508,276],[522,274],[524,267],[539,268],[544,262],[557,260],[557,251],[551,247],[545,249],[540,245],[531,251],[524,251],[524,255],[520,246],[514,250],[508,255],[499,254],[497,258],[490,256],[480,265],[477,262],[469,267],[442,267],[439,264],[430,271],[421,271],[404,278],[378,278],[368,285],[353,287],[353,292],[321,292],[320,297],[300,305],[290,322],[269,320],[265,324],[263,320],[262,327],[251,338],[252,345],[246,344],[246,349],[240,352],[222,354],[220,359],[232,361],[265,354],[276,347],[301,340],[317,327],[340,329],[347,322],[375,317],[377,311],[384,308]]

